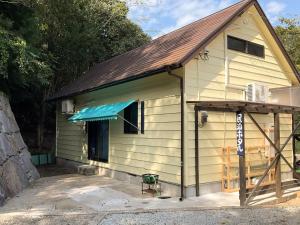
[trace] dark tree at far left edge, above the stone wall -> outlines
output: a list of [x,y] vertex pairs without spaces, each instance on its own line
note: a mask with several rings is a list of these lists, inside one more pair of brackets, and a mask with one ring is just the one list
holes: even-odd
[[24,2],[0,3],[0,90],[9,95],[21,130],[34,129],[53,58],[40,46],[35,12]]

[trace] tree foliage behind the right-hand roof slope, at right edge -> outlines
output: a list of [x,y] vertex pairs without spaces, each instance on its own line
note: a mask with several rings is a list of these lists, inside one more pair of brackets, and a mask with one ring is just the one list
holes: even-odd
[[300,71],[300,18],[281,18],[275,31]]

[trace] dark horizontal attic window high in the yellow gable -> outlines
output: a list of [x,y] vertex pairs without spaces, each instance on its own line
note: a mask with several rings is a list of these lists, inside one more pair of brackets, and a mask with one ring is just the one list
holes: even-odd
[[250,41],[246,41],[240,38],[228,36],[227,37],[228,49],[243,52],[249,55],[265,57],[265,47]]

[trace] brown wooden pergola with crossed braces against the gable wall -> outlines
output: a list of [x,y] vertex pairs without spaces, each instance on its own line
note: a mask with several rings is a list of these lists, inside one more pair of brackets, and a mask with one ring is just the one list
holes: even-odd
[[[240,184],[240,205],[245,206],[253,199],[260,184],[267,176],[270,169],[275,166],[275,189],[276,197],[282,197],[282,181],[281,181],[281,159],[294,171],[294,167],[282,154],[282,151],[287,146],[288,142],[294,136],[297,129],[300,127],[300,122],[294,126],[291,134],[285,140],[283,145],[280,144],[280,117],[279,114],[292,114],[300,112],[300,107],[245,102],[245,101],[187,101],[189,104],[194,104],[195,110],[195,172],[196,172],[196,195],[199,196],[199,111],[217,111],[217,112],[232,112],[236,113],[236,130],[237,130],[237,154],[239,156],[239,184]],[[259,123],[253,118],[252,114],[274,114],[274,142],[265,133]],[[250,193],[247,193],[246,188],[246,169],[245,169],[245,114],[255,124],[258,130],[268,140],[270,145],[276,150],[274,159],[266,168],[263,175],[259,178],[257,184]]]

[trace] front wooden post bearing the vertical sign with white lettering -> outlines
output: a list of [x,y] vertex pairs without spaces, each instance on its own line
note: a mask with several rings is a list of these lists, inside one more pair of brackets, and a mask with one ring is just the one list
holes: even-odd
[[236,112],[237,154],[239,156],[240,206],[246,202],[245,123],[244,112]]

